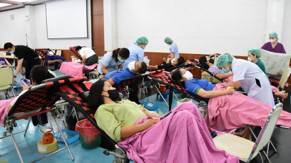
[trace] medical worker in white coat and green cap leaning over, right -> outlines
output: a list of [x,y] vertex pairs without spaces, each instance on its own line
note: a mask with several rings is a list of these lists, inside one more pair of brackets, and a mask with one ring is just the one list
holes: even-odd
[[275,106],[269,79],[254,63],[236,59],[229,53],[217,57],[215,66],[228,73],[232,70],[233,83],[223,83],[238,89],[243,88],[252,97],[269,106]]

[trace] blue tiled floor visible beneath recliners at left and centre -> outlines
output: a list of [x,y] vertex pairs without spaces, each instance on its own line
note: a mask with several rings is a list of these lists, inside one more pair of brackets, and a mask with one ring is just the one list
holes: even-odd
[[[58,74],[59,76],[59,74]],[[157,110],[153,111],[161,111],[162,113],[167,113],[169,111],[169,108],[167,107],[166,103],[162,100],[162,98],[159,97],[159,99],[156,99],[156,94],[149,96],[145,99],[140,100],[140,102],[154,102],[159,104],[159,108]],[[181,99],[180,94],[177,94],[177,97]],[[168,102],[168,101],[167,101]],[[172,108],[176,107],[177,105],[177,99],[173,98]],[[17,121],[17,127],[14,128],[14,133],[18,132],[20,130],[25,129],[27,120],[18,120]],[[60,124],[62,127],[62,124]],[[32,123],[30,123],[28,132],[26,136],[24,137],[24,133],[19,133],[15,135],[16,142],[18,144],[18,148],[22,154],[24,162],[31,162],[35,159],[38,159],[45,154],[39,153],[37,151],[37,141],[39,139],[42,139],[42,133],[40,133],[38,130],[43,128],[42,126],[33,126]],[[6,129],[3,127],[0,127],[0,134],[5,132]],[[4,139],[0,139],[0,158],[4,161],[9,162],[20,162],[17,152],[15,150],[15,147],[13,145],[11,137],[7,137]],[[58,143],[59,149],[64,147],[65,144]],[[106,156],[103,154],[103,148],[96,148],[96,149],[83,149],[80,141],[77,140],[76,142],[69,145],[72,153],[75,157],[75,161],[72,161],[69,152],[67,149],[62,150],[61,152],[55,153],[52,156],[49,156],[47,158],[42,159],[38,162],[45,162],[45,163],[51,163],[51,162],[74,162],[74,163],[81,163],[81,162],[97,162],[97,163],[106,163],[106,162],[112,162],[113,156],[109,155]]]

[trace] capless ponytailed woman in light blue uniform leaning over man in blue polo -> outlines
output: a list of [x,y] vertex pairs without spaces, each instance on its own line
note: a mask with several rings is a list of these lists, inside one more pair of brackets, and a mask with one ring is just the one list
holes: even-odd
[[104,54],[97,67],[99,74],[105,75],[114,70],[122,69],[128,57],[129,50],[127,48],[118,48]]

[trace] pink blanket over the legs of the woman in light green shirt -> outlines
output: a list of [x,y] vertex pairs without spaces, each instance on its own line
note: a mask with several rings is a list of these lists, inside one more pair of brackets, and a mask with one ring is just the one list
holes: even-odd
[[[149,118],[141,118],[135,124]],[[165,119],[118,145],[137,163],[239,162],[236,156],[216,149],[203,117],[192,102],[181,104]]]

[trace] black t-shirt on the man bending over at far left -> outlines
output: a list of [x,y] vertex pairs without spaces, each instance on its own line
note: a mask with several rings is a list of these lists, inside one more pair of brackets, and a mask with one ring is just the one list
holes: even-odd
[[23,58],[23,60],[30,61],[38,57],[38,54],[36,54],[34,50],[27,46],[16,45],[15,47],[14,55],[18,57],[18,60]]

